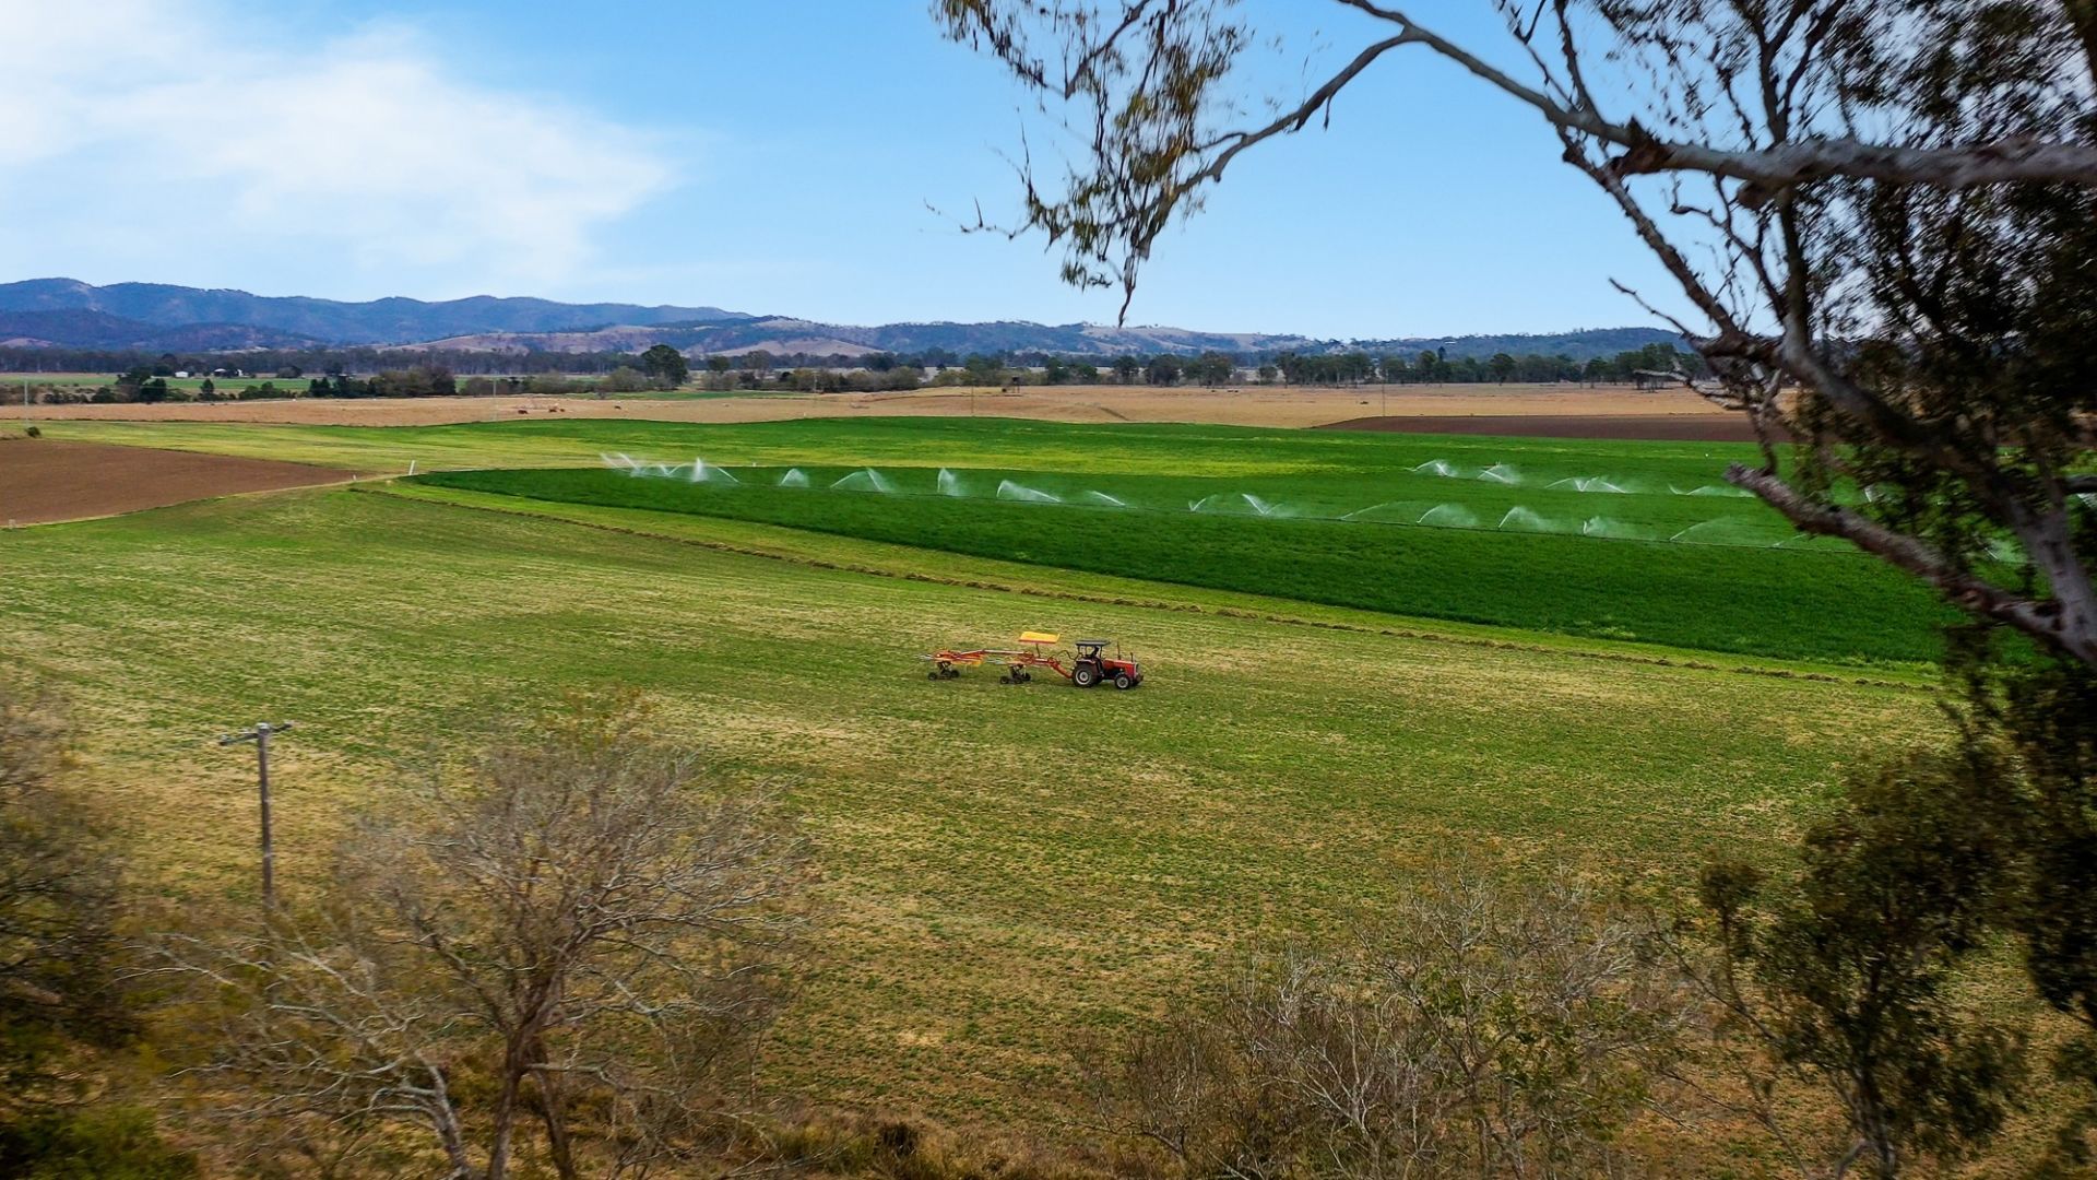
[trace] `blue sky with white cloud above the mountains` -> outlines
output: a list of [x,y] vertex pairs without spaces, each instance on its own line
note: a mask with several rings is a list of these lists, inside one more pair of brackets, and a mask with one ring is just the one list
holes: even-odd
[[[1493,42],[1485,0],[1428,0]],[[1262,86],[1353,52],[1317,0]],[[1428,15],[1422,13],[1422,15]],[[539,294],[845,323],[1111,319],[1017,208],[1025,99],[921,0],[0,0],[0,277]],[[946,216],[927,206],[946,210]],[[1132,323],[1436,336],[1646,323],[1663,283],[1516,105],[1386,59],[1329,130],[1239,157]]]

